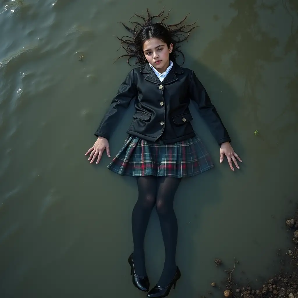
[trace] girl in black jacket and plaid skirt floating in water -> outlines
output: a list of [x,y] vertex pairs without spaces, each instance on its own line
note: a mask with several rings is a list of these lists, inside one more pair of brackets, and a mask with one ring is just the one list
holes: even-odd
[[128,56],[128,63],[130,58],[136,57],[136,64],[140,67],[132,69],[120,86],[95,132],[98,137],[96,142],[86,153],[91,153],[90,163],[96,159],[96,164],[104,150],[111,157],[108,139],[121,118],[122,110],[134,100],[136,111],[127,130],[128,137],[108,169],[119,175],[136,177],[139,196],[132,212],[134,251],[128,262],[133,284],[146,292],[149,291],[149,279],[145,268],[144,238],[151,210],[156,206],[165,261],[162,275],[147,297],[167,296],[180,278],[175,260],[177,220],[173,200],[181,179],[214,167],[200,138],[193,131],[190,122],[193,117],[188,108],[190,99],[197,103],[201,117],[220,145],[220,162],[226,155],[233,171],[232,161],[238,169],[236,158],[241,162],[195,73],[176,64],[179,44],[194,29],[193,24],[184,25],[186,16],[180,23],[168,26],[164,20],[169,14],[160,23],[152,22],[163,13],[151,16],[147,10],[146,19],[134,15],[140,17],[142,23],[132,23],[135,24],[133,29],[121,23],[132,34],[132,39],[118,38],[122,47],[126,45],[127,52],[120,57]]

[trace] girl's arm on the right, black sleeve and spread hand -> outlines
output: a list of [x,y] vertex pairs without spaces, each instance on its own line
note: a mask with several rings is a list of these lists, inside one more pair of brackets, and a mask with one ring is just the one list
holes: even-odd
[[219,145],[220,149],[220,161],[223,162],[224,155],[226,155],[230,168],[234,171],[233,163],[239,169],[236,158],[242,162],[240,157],[233,150],[230,142],[231,138],[224,127],[214,105],[212,105],[211,100],[201,82],[196,77],[195,73],[192,73],[190,84],[189,84],[190,99],[194,100],[198,104],[199,113],[205,120],[209,129]]

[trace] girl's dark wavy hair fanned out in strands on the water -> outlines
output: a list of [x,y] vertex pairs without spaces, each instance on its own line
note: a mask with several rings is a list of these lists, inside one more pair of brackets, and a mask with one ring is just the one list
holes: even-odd
[[121,47],[124,48],[127,53],[118,57],[115,60],[115,62],[121,57],[128,56],[127,63],[129,65],[129,60],[133,57],[136,57],[135,65],[143,65],[147,63],[147,60],[143,52],[143,44],[149,38],[159,38],[162,42],[167,44],[168,47],[170,46],[170,44],[173,44],[173,51],[170,53],[170,60],[176,62],[176,57],[179,56],[179,54],[181,54],[183,56],[184,63],[184,55],[179,50],[180,43],[182,41],[187,40],[188,36],[190,35],[190,32],[198,26],[193,26],[195,23],[189,25],[184,24],[184,21],[186,20],[188,14],[178,24],[167,25],[164,23],[164,21],[169,17],[169,13],[170,10],[167,16],[162,18],[162,20],[159,23],[153,23],[152,20],[154,18],[159,18],[164,14],[164,9],[159,13],[159,15],[153,16],[150,15],[149,10],[147,9],[147,19],[145,19],[144,15],[138,14],[135,14],[131,17],[138,17],[141,18],[143,21],[143,24],[139,22],[129,21],[131,24],[135,24],[133,28],[129,28],[122,22],[119,22],[123,25],[123,27],[126,30],[128,30],[131,33],[132,37],[123,36],[122,38],[119,38],[114,35],[121,41]]

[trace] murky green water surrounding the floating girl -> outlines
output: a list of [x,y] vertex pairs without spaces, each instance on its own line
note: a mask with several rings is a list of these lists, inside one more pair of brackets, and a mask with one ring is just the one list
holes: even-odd
[[[234,257],[243,281],[260,281],[275,270],[276,250],[291,245],[283,225],[297,199],[296,0],[1,0],[1,298],[145,297],[127,263],[136,183],[108,171],[106,156],[95,166],[84,153],[131,69],[125,59],[113,64],[122,52],[112,35],[125,33],[117,22],[163,5],[173,8],[170,22],[197,20],[184,66],[204,83],[243,160],[240,171],[219,165],[215,140],[194,120],[217,166],[177,192],[182,278],[171,297],[206,295]],[[155,211],[145,243],[154,284],[164,258]]]

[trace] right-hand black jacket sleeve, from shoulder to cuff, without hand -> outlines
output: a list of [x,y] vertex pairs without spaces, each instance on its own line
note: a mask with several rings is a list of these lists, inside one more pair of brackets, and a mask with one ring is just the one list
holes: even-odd
[[224,127],[214,105],[201,82],[193,72],[189,84],[190,99],[198,105],[198,111],[204,121],[207,123],[212,135],[219,145],[224,142],[231,142],[229,134]]

